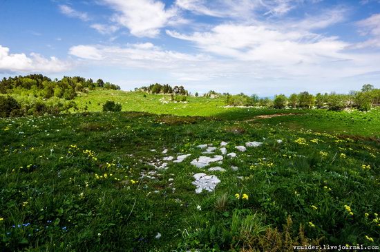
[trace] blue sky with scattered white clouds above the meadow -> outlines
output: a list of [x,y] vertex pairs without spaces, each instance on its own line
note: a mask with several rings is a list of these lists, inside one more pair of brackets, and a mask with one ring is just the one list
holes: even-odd
[[380,0],[0,0],[0,77],[191,92],[380,87]]

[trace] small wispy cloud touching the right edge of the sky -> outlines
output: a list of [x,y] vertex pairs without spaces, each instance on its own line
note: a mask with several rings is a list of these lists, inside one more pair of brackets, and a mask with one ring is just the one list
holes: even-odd
[[357,22],[357,25],[362,36],[371,36],[372,38],[358,43],[356,48],[380,47],[380,13],[372,14],[368,19]]

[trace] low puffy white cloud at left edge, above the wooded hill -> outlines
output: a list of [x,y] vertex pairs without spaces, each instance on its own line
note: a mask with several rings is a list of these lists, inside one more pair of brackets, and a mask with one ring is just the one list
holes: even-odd
[[70,64],[56,57],[46,59],[40,54],[10,54],[9,48],[0,45],[1,72],[62,72],[68,70]]

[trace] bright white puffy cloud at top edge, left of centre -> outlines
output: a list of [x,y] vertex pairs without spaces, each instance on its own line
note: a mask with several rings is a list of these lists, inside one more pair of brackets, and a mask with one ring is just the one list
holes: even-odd
[[155,0],[103,0],[117,14],[112,21],[129,29],[134,36],[155,37],[160,28],[173,23],[183,23],[176,8],[165,8]]

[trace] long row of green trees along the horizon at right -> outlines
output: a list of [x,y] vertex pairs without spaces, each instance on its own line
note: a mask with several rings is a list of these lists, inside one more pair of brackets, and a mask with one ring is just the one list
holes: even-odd
[[373,85],[365,84],[360,91],[351,91],[349,94],[321,94],[315,96],[309,92],[284,94],[274,96],[274,99],[259,98],[256,94],[247,96],[243,93],[237,95],[225,94],[225,103],[233,106],[262,106],[282,109],[291,108],[324,108],[330,110],[342,110],[346,108],[357,108],[368,111],[374,106],[380,105],[380,89]]

